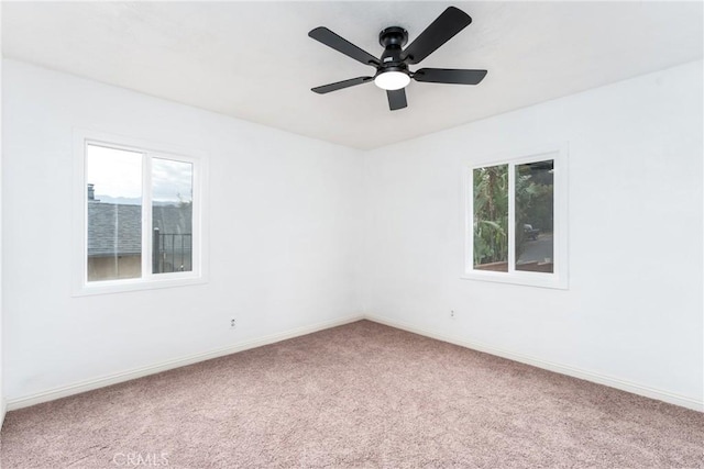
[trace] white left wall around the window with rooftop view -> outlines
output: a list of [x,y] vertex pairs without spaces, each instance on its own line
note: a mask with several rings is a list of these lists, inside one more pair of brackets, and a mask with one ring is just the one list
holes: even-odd
[[[360,313],[356,150],[14,60],[2,86],[9,401]],[[75,127],[206,152],[209,283],[72,298]]]

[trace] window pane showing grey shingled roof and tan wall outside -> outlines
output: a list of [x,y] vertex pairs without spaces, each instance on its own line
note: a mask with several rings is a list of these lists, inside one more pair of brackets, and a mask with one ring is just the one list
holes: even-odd
[[88,281],[142,276],[142,154],[86,146]]

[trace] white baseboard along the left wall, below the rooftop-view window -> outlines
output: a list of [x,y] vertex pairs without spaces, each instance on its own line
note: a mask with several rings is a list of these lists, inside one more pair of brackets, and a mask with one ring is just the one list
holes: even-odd
[[[302,327],[297,327],[290,331],[285,331],[276,334],[266,335],[264,337],[250,339],[237,345],[232,345],[224,348],[218,348],[218,349],[206,351],[202,354],[182,357],[174,360],[168,360],[161,364],[152,365],[148,367],[135,368],[132,370],[127,370],[127,371],[122,371],[114,375],[103,376],[96,379],[79,381],[73,384],[50,389],[47,391],[43,391],[32,395],[10,399],[7,402],[7,411],[14,411],[22,407],[29,407],[30,405],[40,404],[42,402],[54,401],[56,399],[66,398],[68,395],[79,394],[86,391],[92,391],[94,389],[105,388],[107,386],[117,384],[119,382],[142,378],[142,377],[158,373],[162,371],[167,371],[174,368],[184,367],[186,365],[193,365],[199,361],[210,360],[212,358],[223,357],[226,355],[235,354],[238,351],[261,347],[263,345],[274,344],[276,342],[282,342],[282,340],[298,337],[301,335],[311,334],[314,332],[353,323],[355,321],[361,321],[363,319],[364,319],[363,315],[352,315],[352,316],[346,316],[338,320],[316,323],[316,324],[311,324]],[[4,410],[6,410],[6,406],[3,404],[3,412],[2,412],[3,417],[4,417]]]

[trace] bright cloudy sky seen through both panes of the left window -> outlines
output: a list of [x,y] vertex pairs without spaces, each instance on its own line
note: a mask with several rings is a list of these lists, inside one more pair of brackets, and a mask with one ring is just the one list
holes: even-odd
[[[87,146],[87,182],[102,202],[140,204],[142,158],[139,152]],[[152,159],[152,199],[158,203],[193,200],[193,165],[164,158]]]

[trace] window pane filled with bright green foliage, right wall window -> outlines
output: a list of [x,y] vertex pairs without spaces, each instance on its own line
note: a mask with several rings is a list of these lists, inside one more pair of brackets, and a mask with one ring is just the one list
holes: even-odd
[[508,271],[508,165],[476,168],[474,183],[474,268]]

